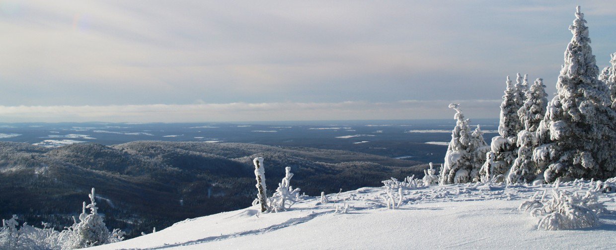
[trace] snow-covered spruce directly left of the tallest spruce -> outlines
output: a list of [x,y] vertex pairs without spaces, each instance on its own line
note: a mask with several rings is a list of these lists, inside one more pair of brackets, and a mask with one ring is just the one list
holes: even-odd
[[526,92],[526,102],[517,115],[524,130],[517,133],[517,158],[507,175],[507,183],[531,182],[543,169],[533,161],[533,149],[539,145],[535,131],[545,116],[548,99],[543,79],[537,78],[535,84]]

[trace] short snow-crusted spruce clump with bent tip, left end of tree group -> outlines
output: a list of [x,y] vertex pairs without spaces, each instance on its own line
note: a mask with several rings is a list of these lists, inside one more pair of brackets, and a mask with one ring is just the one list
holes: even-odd
[[447,154],[445,154],[445,164],[440,171],[440,185],[467,183],[476,179],[480,164],[485,160],[485,158],[480,158],[481,160],[477,162],[477,150],[487,145],[480,130],[471,134],[469,120],[464,119],[460,104],[452,103],[449,108],[456,110],[453,118],[457,121],[452,131],[452,140],[447,147]]

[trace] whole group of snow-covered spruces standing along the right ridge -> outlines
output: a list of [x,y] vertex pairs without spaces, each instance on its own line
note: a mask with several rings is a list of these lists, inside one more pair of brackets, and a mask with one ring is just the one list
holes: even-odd
[[488,146],[471,132],[459,105],[440,183],[495,180],[507,183],[616,176],[616,54],[599,72],[588,27],[578,6],[569,30],[556,95],[548,102],[538,78],[509,77],[501,103],[499,135]]

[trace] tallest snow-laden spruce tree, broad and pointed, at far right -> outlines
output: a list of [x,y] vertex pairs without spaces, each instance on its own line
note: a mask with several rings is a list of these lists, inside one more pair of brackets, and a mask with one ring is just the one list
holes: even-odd
[[535,161],[547,165],[543,172],[546,182],[616,175],[616,112],[610,108],[606,84],[598,79],[599,68],[579,6],[575,17],[569,27],[573,38],[565,50],[556,96],[548,103],[537,130],[539,139],[546,143],[533,152]]

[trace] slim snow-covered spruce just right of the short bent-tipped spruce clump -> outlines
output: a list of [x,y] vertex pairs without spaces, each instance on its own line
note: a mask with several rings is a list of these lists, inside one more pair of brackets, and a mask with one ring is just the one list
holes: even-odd
[[[517,81],[521,82],[521,76],[517,74]],[[517,111],[524,102],[521,102],[522,90],[520,84],[513,85],[507,76],[505,95],[501,103],[500,123],[498,134],[492,138],[490,151],[493,153],[489,168],[484,167],[483,175],[490,175],[489,179],[504,181],[511,164],[517,158],[517,133],[523,129]],[[483,179],[486,179],[485,177]]]

